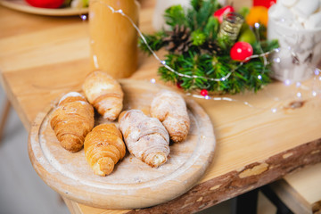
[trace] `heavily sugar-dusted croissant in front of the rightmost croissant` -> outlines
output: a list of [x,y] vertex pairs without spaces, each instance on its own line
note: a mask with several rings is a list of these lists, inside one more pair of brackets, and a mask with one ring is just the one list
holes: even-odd
[[160,120],[144,115],[140,110],[123,111],[119,129],[128,151],[151,167],[159,167],[169,155],[169,133]]

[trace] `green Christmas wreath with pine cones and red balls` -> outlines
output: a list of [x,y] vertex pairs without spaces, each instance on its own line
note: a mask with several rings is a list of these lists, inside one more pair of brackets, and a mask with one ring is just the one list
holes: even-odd
[[251,10],[235,13],[231,5],[221,7],[216,0],[192,0],[188,9],[171,6],[164,13],[169,29],[144,34],[140,49],[153,53],[165,47],[168,53],[158,73],[185,91],[197,90],[201,95],[256,92],[271,82],[267,53],[278,43],[266,39],[261,21],[256,27],[243,21],[235,39],[222,36],[223,17],[231,12],[246,19]]

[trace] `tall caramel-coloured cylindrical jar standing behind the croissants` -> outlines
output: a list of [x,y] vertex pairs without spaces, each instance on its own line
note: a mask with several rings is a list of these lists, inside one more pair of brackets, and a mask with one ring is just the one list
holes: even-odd
[[91,62],[113,78],[128,78],[137,67],[137,32],[127,17],[138,25],[136,0],[90,0],[89,35]]

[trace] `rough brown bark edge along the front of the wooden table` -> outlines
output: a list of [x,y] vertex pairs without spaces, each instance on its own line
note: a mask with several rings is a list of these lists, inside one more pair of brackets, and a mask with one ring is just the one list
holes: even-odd
[[[256,162],[245,166],[243,169],[235,170],[226,173],[225,175],[215,177],[206,182],[199,182],[193,189],[178,197],[175,200],[160,204],[152,208],[141,210],[100,210],[90,208],[83,204],[78,204],[78,212],[76,213],[130,213],[130,214],[149,214],[149,213],[193,213],[204,210],[219,202],[226,201],[242,193],[246,193],[261,185],[268,184],[272,181],[284,177],[288,173],[295,174],[308,164],[316,164],[321,161],[319,152],[321,148],[321,140],[310,142],[309,144],[302,144],[291,150],[281,152],[268,160],[263,162]],[[292,154],[289,156],[289,154]],[[312,166],[314,167],[314,166]],[[208,170],[209,171],[209,170]],[[245,176],[246,175],[246,176]],[[284,180],[282,180],[285,182]],[[288,185],[286,183],[286,185]],[[293,190],[293,188],[291,188]],[[316,192],[318,193],[318,192]],[[290,198],[289,198],[290,199]],[[294,198],[292,198],[294,199]],[[299,200],[296,198],[295,200]],[[303,198],[300,196],[300,202]],[[299,202],[299,201],[297,201]],[[290,202],[292,203],[292,202]],[[75,206],[74,202],[71,202]],[[298,213],[309,210],[308,203],[296,204]],[[314,203],[313,208],[317,210],[318,204]]]

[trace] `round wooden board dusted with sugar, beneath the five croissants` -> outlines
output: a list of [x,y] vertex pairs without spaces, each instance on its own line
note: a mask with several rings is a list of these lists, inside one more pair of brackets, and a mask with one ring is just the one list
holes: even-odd
[[[124,110],[140,109],[149,115],[154,95],[164,86],[122,79]],[[202,177],[212,160],[215,137],[209,116],[186,99],[191,128],[187,139],[170,145],[169,161],[153,169],[127,152],[107,177],[96,176],[84,150],[70,153],[62,148],[50,127],[54,110],[37,115],[29,133],[29,157],[37,174],[62,196],[105,209],[138,209],[167,202],[185,193]],[[101,118],[96,124],[108,122]],[[117,122],[116,122],[116,125]]]

